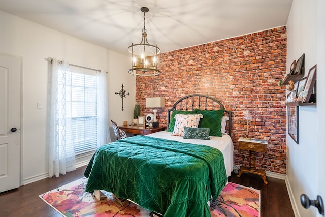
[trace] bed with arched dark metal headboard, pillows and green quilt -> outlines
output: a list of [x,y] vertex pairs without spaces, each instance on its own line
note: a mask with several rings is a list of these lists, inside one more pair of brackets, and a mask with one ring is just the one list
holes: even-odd
[[[212,128],[197,130],[177,125],[185,117],[195,116],[192,122],[204,120],[208,111],[226,115],[227,132],[221,132],[221,118],[217,123],[219,136],[209,135]],[[185,135],[175,136],[180,129]],[[191,137],[206,138],[207,133],[209,140]],[[86,191],[113,192],[118,198],[129,199],[165,217],[211,216],[208,201],[211,196],[217,198],[227,183],[232,154],[231,112],[209,96],[186,96],[168,110],[167,131],[129,137],[98,148],[84,173],[88,178]]]

